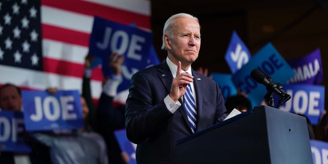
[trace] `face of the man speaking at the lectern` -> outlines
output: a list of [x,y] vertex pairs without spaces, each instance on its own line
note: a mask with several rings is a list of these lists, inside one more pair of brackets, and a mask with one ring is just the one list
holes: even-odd
[[193,63],[200,49],[200,26],[193,18],[179,17],[175,20],[173,36],[169,38],[168,50],[174,64]]

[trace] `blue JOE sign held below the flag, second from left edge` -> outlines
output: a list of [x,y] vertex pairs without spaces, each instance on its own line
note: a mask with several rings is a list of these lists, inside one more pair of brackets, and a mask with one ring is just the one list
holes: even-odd
[[84,127],[80,95],[77,90],[22,91],[26,130],[47,131]]

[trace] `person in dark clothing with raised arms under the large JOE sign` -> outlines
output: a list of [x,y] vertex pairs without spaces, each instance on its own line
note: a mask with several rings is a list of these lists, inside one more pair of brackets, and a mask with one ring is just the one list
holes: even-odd
[[[96,125],[96,131],[103,136],[106,141],[109,163],[118,164],[127,163],[130,160],[130,157],[120,149],[114,134],[115,130],[125,129],[125,106],[113,106],[113,99],[117,94],[117,88],[122,80],[121,65],[124,59],[124,55],[118,55],[115,52],[109,56],[109,66],[111,67],[112,77],[105,77],[103,91],[101,92],[95,111],[96,121],[94,123],[94,125]],[[93,60],[94,57],[91,54],[86,56],[82,89],[83,95],[88,95],[90,98],[90,66]]]

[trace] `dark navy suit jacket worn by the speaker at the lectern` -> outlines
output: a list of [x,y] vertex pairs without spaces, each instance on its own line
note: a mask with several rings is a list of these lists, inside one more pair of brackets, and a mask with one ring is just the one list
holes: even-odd
[[[227,117],[218,84],[192,70],[196,93],[196,132]],[[127,137],[137,144],[137,163],[174,163],[176,141],[192,134],[185,107],[172,114],[163,99],[170,93],[172,73],[166,61],[135,73],[126,101]]]

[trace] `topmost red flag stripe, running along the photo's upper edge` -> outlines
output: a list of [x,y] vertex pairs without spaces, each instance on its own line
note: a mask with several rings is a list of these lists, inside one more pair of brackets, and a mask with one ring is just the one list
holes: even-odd
[[86,14],[90,16],[100,16],[117,23],[131,25],[136,24],[138,27],[151,29],[150,16],[142,15],[127,10],[121,10],[109,6],[103,6],[86,1],[78,0],[57,0],[57,1],[42,1],[42,5],[54,8],[64,9],[72,12]]

